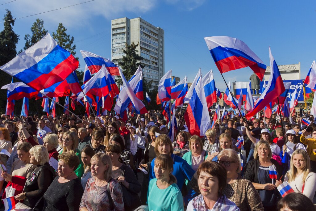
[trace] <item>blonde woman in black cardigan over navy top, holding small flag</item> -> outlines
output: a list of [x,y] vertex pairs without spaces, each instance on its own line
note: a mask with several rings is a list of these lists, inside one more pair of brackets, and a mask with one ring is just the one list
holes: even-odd
[[276,210],[277,190],[275,179],[269,176],[269,166],[281,177],[281,168],[278,162],[271,158],[272,152],[269,143],[260,140],[254,149],[253,160],[247,163],[244,179],[252,182],[258,191],[265,210]]

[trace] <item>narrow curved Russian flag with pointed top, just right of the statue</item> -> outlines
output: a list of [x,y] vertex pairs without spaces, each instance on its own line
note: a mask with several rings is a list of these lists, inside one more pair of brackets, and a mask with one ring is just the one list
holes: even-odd
[[246,118],[248,120],[252,116],[256,115],[259,111],[264,109],[265,106],[267,106],[271,101],[276,99],[285,91],[279,68],[271,54],[270,47],[269,47],[269,55],[270,55],[270,66],[271,66],[270,79],[269,79],[267,87],[265,88],[264,92],[256,101],[253,109],[250,112],[248,112],[248,114],[246,114]]

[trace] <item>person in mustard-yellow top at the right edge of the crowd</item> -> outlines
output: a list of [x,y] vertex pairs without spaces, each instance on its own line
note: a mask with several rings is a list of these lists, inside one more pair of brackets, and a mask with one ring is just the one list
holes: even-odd
[[316,173],[316,129],[312,132],[311,139],[305,138],[306,129],[302,130],[300,141],[307,145],[307,154],[311,162],[311,171]]

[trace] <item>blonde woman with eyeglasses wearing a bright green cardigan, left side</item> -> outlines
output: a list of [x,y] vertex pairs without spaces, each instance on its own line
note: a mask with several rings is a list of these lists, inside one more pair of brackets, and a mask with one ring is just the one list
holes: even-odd
[[81,178],[84,172],[83,169],[83,163],[81,161],[81,152],[77,149],[78,148],[78,135],[76,132],[73,131],[67,131],[64,133],[63,138],[63,150],[60,152],[62,154],[63,152],[74,152],[76,156],[78,156],[80,163],[78,165],[78,168],[75,170],[75,173],[78,178]]

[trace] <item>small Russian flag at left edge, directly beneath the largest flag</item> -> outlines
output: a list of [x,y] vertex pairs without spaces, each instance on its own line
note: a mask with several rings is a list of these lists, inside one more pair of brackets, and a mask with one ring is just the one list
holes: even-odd
[[1,89],[8,89],[7,96],[8,100],[19,100],[23,97],[33,98],[38,95],[38,91],[29,87],[28,85],[22,82],[16,82],[4,85]]

